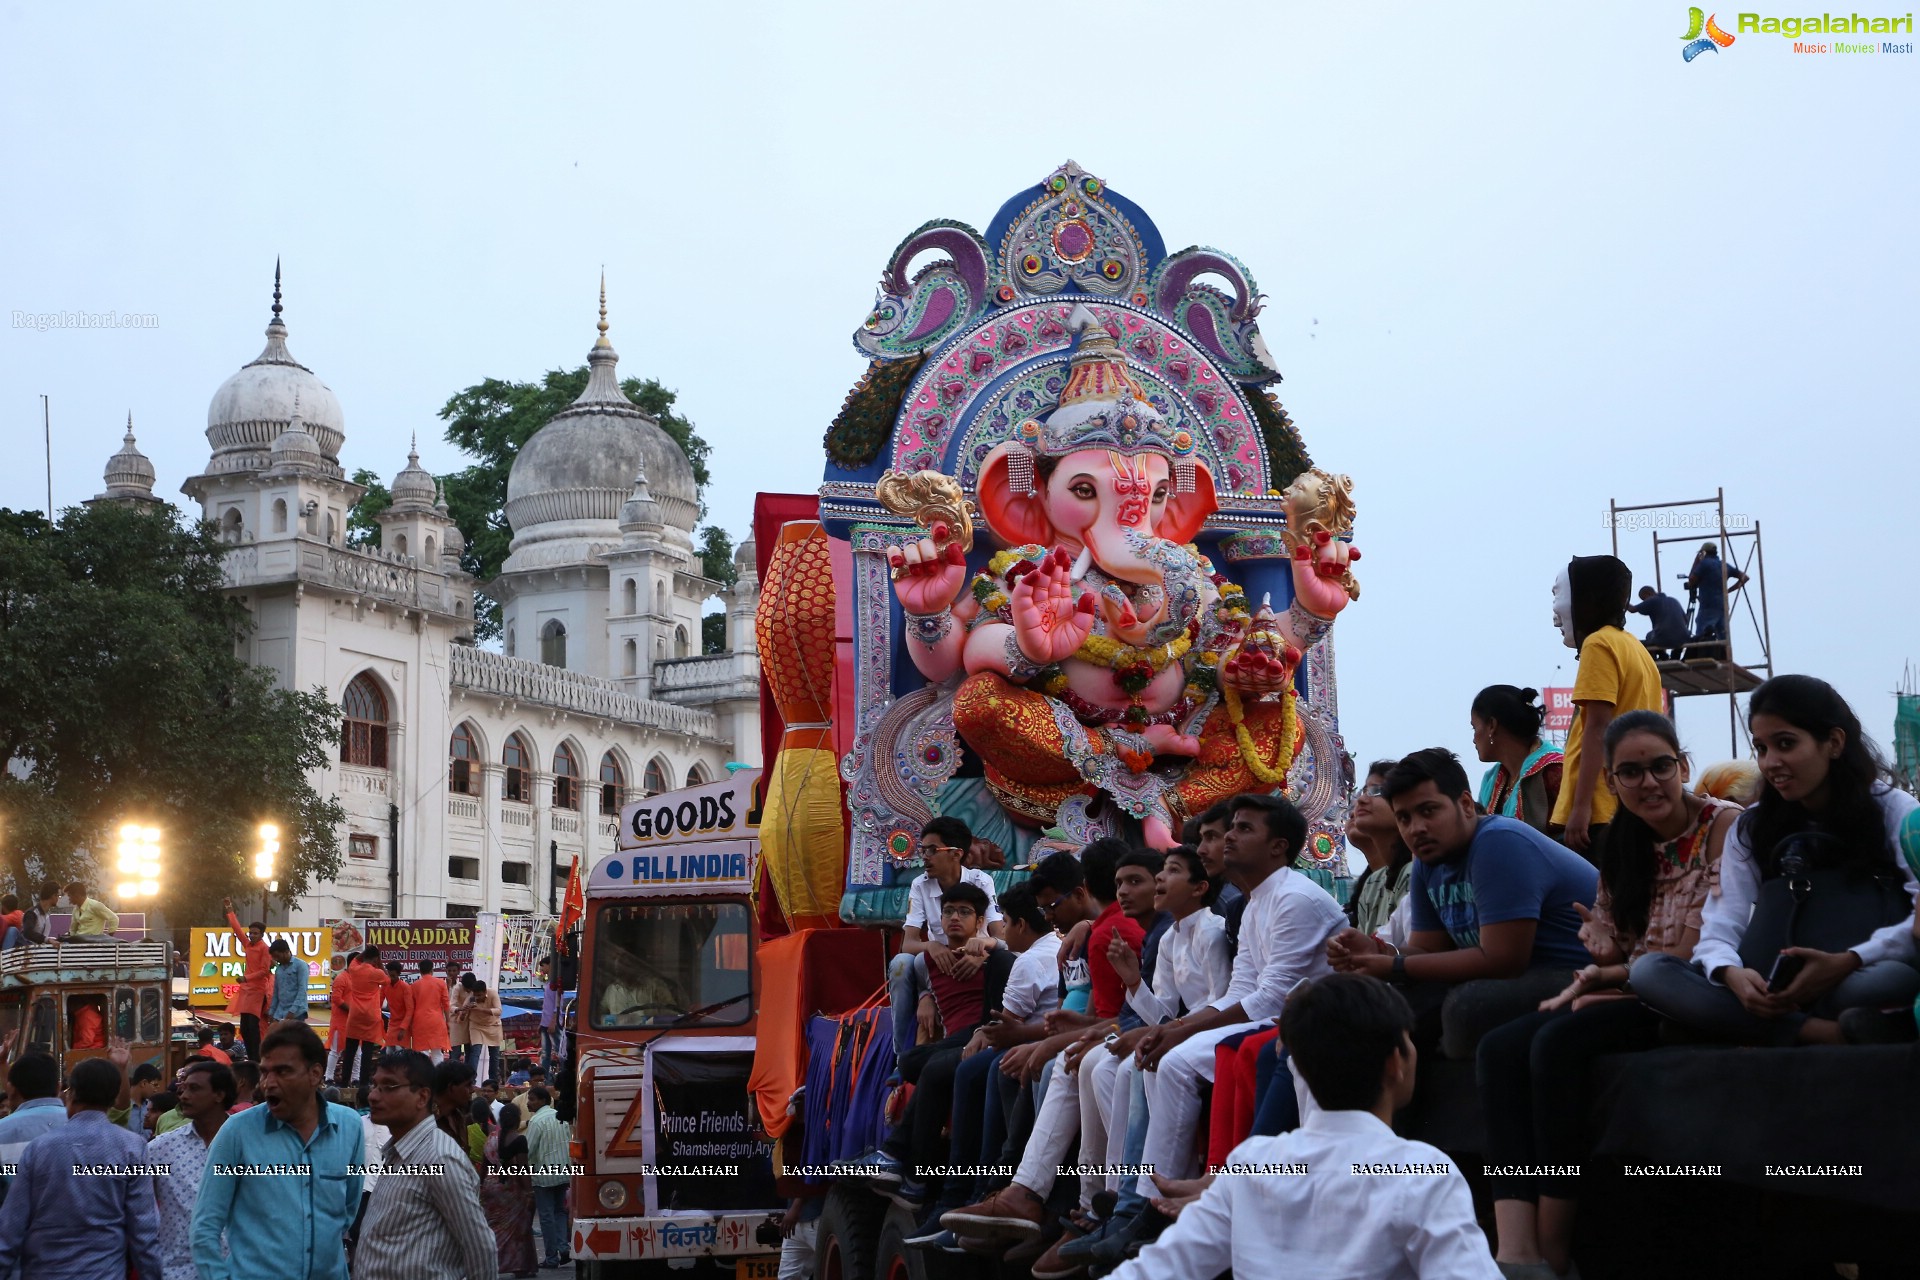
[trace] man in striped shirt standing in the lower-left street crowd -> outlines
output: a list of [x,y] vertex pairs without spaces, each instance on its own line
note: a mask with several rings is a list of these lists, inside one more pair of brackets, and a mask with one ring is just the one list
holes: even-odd
[[367,1197],[353,1280],[497,1280],[493,1228],[480,1209],[480,1178],[465,1148],[428,1117],[434,1063],[390,1050],[372,1073],[369,1109],[392,1142]]

